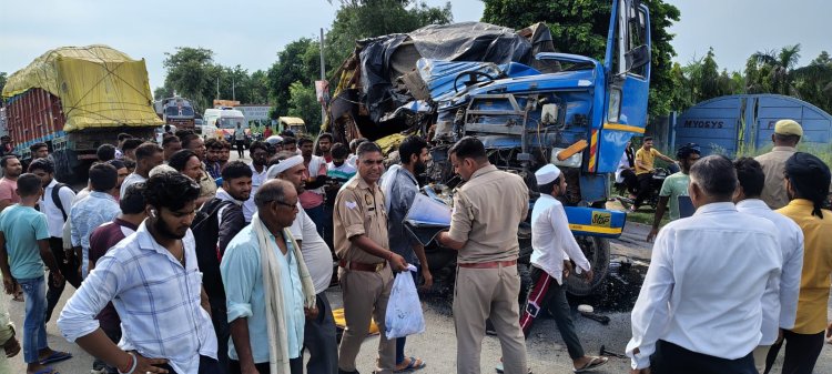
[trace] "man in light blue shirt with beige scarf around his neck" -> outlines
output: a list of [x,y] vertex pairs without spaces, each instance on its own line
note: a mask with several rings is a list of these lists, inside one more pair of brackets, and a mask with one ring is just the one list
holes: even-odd
[[231,321],[231,373],[303,374],[304,323],[317,316],[315,287],[288,228],[297,192],[263,184],[257,213],[229,243],[220,271]]

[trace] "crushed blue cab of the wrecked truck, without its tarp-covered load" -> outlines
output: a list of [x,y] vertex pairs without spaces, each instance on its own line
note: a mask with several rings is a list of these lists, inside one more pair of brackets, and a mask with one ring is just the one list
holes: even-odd
[[[589,284],[571,277],[568,290],[588,294],[603,281],[609,263],[606,237],[623,230],[626,214],[605,210],[609,174],[618,166],[626,143],[642,134],[647,120],[650,81],[650,24],[646,6],[618,0],[603,61],[568,53],[539,53],[539,72],[510,62],[493,79],[489,68],[459,73],[453,95],[437,101],[434,139],[447,144],[475,135],[489,159],[504,170],[524,176],[535,191],[534,172],[546,163],[564,170],[564,198],[570,229],[595,266]],[[449,63],[423,63],[447,70]],[[434,75],[435,77],[435,75]],[[460,88],[460,81],[467,84]],[[434,148],[442,163],[447,148]],[[437,175],[438,176],[438,175]],[[534,204],[534,202],[532,202]],[[526,251],[528,254],[528,251]],[[521,254],[522,255],[522,254]]]

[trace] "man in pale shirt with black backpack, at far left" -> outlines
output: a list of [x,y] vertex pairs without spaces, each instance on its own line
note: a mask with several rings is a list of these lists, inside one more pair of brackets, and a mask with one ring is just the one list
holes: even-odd
[[58,305],[58,301],[61,299],[67,282],[70,282],[75,289],[81,286],[75,256],[64,255],[62,239],[63,224],[67,223],[67,218],[72,209],[72,200],[75,199],[75,192],[69,185],[58,182],[54,179],[54,164],[49,159],[35,159],[29,165],[29,172],[38,175],[43,185],[43,195],[41,195],[39,202],[40,212],[47,215],[49,247],[52,250],[61,274],[65,277],[65,282],[59,284],[48,282],[49,291],[47,292],[47,316],[44,321],[49,322],[54,306]]

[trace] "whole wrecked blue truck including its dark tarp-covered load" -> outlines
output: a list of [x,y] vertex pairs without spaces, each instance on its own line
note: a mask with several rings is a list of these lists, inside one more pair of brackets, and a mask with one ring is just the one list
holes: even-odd
[[[558,165],[569,184],[562,201],[570,228],[595,270],[589,283],[570,276],[567,290],[586,295],[603,283],[608,239],[619,236],[626,221],[605,203],[626,143],[645,132],[649,11],[637,0],[615,0],[603,61],[556,52],[545,24],[513,31],[514,39],[506,34],[469,22],[358,42],[338,71],[327,128],[336,141],[425,135],[433,156],[427,182],[451,188],[460,181],[447,150],[475,135],[495,165],[527,181],[530,205],[538,195],[534,172]],[[520,262],[528,264],[528,222],[519,240]],[[432,269],[455,257],[438,247],[427,252]]]

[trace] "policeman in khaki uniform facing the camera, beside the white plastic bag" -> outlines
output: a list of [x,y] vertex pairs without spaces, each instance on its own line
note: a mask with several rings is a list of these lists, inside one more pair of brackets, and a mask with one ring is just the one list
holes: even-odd
[[384,319],[393,287],[392,270],[403,271],[407,263],[389,250],[387,241],[384,194],[376,183],[384,171],[382,149],[367,142],[358,146],[357,153],[358,175],[338,191],[333,212],[333,239],[341,259],[338,280],[346,319],[338,352],[338,373],[357,373],[355,357],[367,336],[371,315],[382,331],[378,342],[381,367],[376,373],[392,373],[396,367],[396,341],[388,341],[385,336]]

